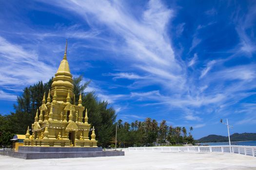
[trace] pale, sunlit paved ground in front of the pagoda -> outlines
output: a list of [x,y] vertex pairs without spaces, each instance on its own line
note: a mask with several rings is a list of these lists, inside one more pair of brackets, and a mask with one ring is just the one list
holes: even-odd
[[256,157],[230,153],[125,152],[125,156],[24,160],[0,156],[0,170],[256,170]]

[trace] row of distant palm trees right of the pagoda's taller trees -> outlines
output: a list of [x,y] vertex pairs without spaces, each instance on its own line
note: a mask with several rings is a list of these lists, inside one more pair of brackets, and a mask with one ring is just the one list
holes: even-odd
[[117,129],[118,147],[194,144],[191,134],[193,127],[190,127],[187,132],[185,127],[168,126],[166,120],[162,120],[158,124],[157,120],[151,118],[131,123],[123,123],[119,119]]

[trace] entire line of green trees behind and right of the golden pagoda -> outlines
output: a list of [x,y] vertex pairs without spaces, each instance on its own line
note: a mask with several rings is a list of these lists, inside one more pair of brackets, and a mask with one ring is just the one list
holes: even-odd
[[[83,93],[90,82],[82,84],[81,81],[82,76],[73,79],[76,101],[72,102],[78,104],[79,94],[82,94],[82,105],[88,109],[88,123],[95,126],[98,146],[114,146],[116,126],[118,127],[118,147],[193,143],[192,127],[187,135],[185,127],[167,126],[165,120],[162,120],[159,126],[156,120],[150,118],[131,123],[123,123],[121,119],[116,121],[115,109],[110,107],[107,101],[98,100],[94,91]],[[10,139],[15,134],[26,133],[27,126],[31,127],[36,110],[42,104],[44,92],[47,93],[51,85],[52,79],[46,83],[39,81],[25,87],[22,94],[17,97],[17,103],[14,104],[15,112],[8,115],[0,114],[0,146],[11,145]]]

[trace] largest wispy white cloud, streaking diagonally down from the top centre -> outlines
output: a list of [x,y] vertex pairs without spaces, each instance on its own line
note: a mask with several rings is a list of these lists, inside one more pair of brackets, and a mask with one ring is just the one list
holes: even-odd
[[[173,11],[166,8],[162,2],[151,0],[138,19],[129,13],[123,4],[118,1],[97,3],[90,0],[87,2],[74,0],[55,5],[79,14],[94,30],[98,25],[103,24],[117,36],[122,37],[123,42],[115,44],[118,48],[113,50],[118,55],[128,56],[122,60],[128,60],[129,63],[132,61],[134,65],[131,67],[150,74],[152,77],[150,81],[166,82],[167,79],[172,84],[184,82],[182,75],[185,70],[180,65],[181,61],[175,58],[166,30]],[[94,8],[92,9],[91,6]]]

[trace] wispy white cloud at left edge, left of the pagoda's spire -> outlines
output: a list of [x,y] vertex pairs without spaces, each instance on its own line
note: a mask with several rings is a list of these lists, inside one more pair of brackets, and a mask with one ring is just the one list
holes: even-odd
[[24,49],[0,36],[0,85],[22,89],[39,80],[48,81],[55,71],[53,66],[39,60],[32,49]]

